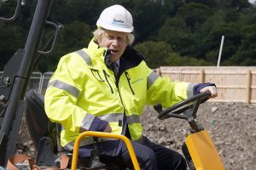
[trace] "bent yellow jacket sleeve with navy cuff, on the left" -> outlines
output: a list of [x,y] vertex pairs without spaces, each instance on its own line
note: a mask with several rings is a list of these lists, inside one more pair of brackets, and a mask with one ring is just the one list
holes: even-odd
[[44,96],[44,109],[51,122],[59,122],[73,132],[103,131],[108,122],[84,111],[76,105],[83,90],[84,74],[81,74],[78,57],[67,54],[62,57]]

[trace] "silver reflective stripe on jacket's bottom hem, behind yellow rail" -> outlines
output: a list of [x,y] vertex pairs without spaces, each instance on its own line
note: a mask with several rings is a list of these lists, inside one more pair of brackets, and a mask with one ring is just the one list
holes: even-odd
[[[108,140],[117,140],[117,139],[98,138],[99,142],[108,141]],[[95,143],[95,141],[92,137],[86,137],[86,138],[81,140],[79,146],[84,146],[84,145],[93,144],[93,143]],[[64,149],[67,150],[67,151],[72,151],[73,150],[73,144],[74,144],[74,141],[66,144],[64,146]]]

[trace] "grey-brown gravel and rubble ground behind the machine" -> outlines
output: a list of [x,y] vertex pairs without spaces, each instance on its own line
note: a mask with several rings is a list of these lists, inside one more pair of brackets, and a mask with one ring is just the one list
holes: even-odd
[[[197,120],[212,137],[228,170],[256,169],[256,106],[244,103],[212,103],[200,106]],[[184,120],[157,119],[152,107],[146,107],[143,115],[144,135],[152,141],[181,153],[189,124]],[[16,154],[35,157],[32,140],[24,123],[20,128]]]

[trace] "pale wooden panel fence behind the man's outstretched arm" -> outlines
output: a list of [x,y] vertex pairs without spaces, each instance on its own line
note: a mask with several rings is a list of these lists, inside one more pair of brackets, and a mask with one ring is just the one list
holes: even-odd
[[172,81],[214,82],[218,97],[212,102],[256,103],[256,67],[161,66],[156,71]]

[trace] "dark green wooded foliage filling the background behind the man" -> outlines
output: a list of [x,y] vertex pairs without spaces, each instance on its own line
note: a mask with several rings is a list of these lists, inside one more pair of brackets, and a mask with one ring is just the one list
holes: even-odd
[[[0,16],[9,17],[15,0],[4,1]],[[0,71],[18,48],[24,48],[37,1],[26,0],[13,23],[0,23]],[[256,6],[247,0],[54,0],[48,20],[60,22],[54,51],[42,55],[38,71],[54,71],[64,54],[84,48],[104,8],[124,5],[134,19],[134,47],[148,65],[215,65],[224,35],[221,65],[255,65]],[[42,40],[52,36],[47,31]]]

